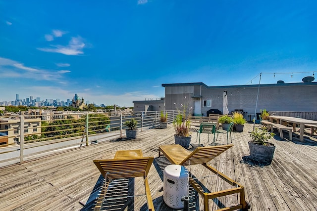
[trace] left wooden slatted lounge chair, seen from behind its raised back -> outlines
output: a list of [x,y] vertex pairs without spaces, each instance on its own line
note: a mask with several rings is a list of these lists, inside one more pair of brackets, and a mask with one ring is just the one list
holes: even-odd
[[94,210],[99,211],[102,208],[107,188],[112,180],[143,177],[148,209],[149,211],[154,211],[147,178],[153,160],[154,157],[143,157],[141,150],[117,151],[114,159],[94,160],[95,165],[105,178],[105,185],[102,187],[102,191],[97,198]]

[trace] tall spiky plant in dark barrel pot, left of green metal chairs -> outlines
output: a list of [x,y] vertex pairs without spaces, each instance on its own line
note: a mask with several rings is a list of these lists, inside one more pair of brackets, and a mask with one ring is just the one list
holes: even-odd
[[[185,119],[185,118],[184,118]],[[190,121],[183,122],[183,115],[176,115],[176,119],[173,122],[175,129],[175,144],[179,144],[185,149],[189,147],[192,136],[190,135]]]

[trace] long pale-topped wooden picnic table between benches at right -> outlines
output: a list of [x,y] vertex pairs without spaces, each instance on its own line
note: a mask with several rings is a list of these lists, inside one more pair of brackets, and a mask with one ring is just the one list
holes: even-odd
[[297,118],[297,117],[285,117],[285,116],[268,116],[268,117],[270,119],[270,122],[273,122],[274,120],[276,120],[279,124],[282,124],[283,121],[293,123],[293,125],[298,124],[299,125],[299,140],[300,141],[304,141],[305,125],[317,125],[317,121],[306,120],[306,119],[301,119],[301,118]]

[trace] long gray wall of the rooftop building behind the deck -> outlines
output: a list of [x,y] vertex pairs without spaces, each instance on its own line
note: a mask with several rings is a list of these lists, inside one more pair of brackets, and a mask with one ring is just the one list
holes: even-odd
[[[243,109],[255,113],[259,85],[207,86],[203,83],[162,84],[165,87],[165,109],[175,109],[176,105],[193,106],[193,100],[201,101],[204,116],[210,109],[222,112],[223,91],[227,91],[228,110]],[[186,97],[186,98],[185,98]],[[203,107],[203,100],[211,100],[211,107]],[[317,111],[317,83],[261,84],[257,113],[268,111]]]

